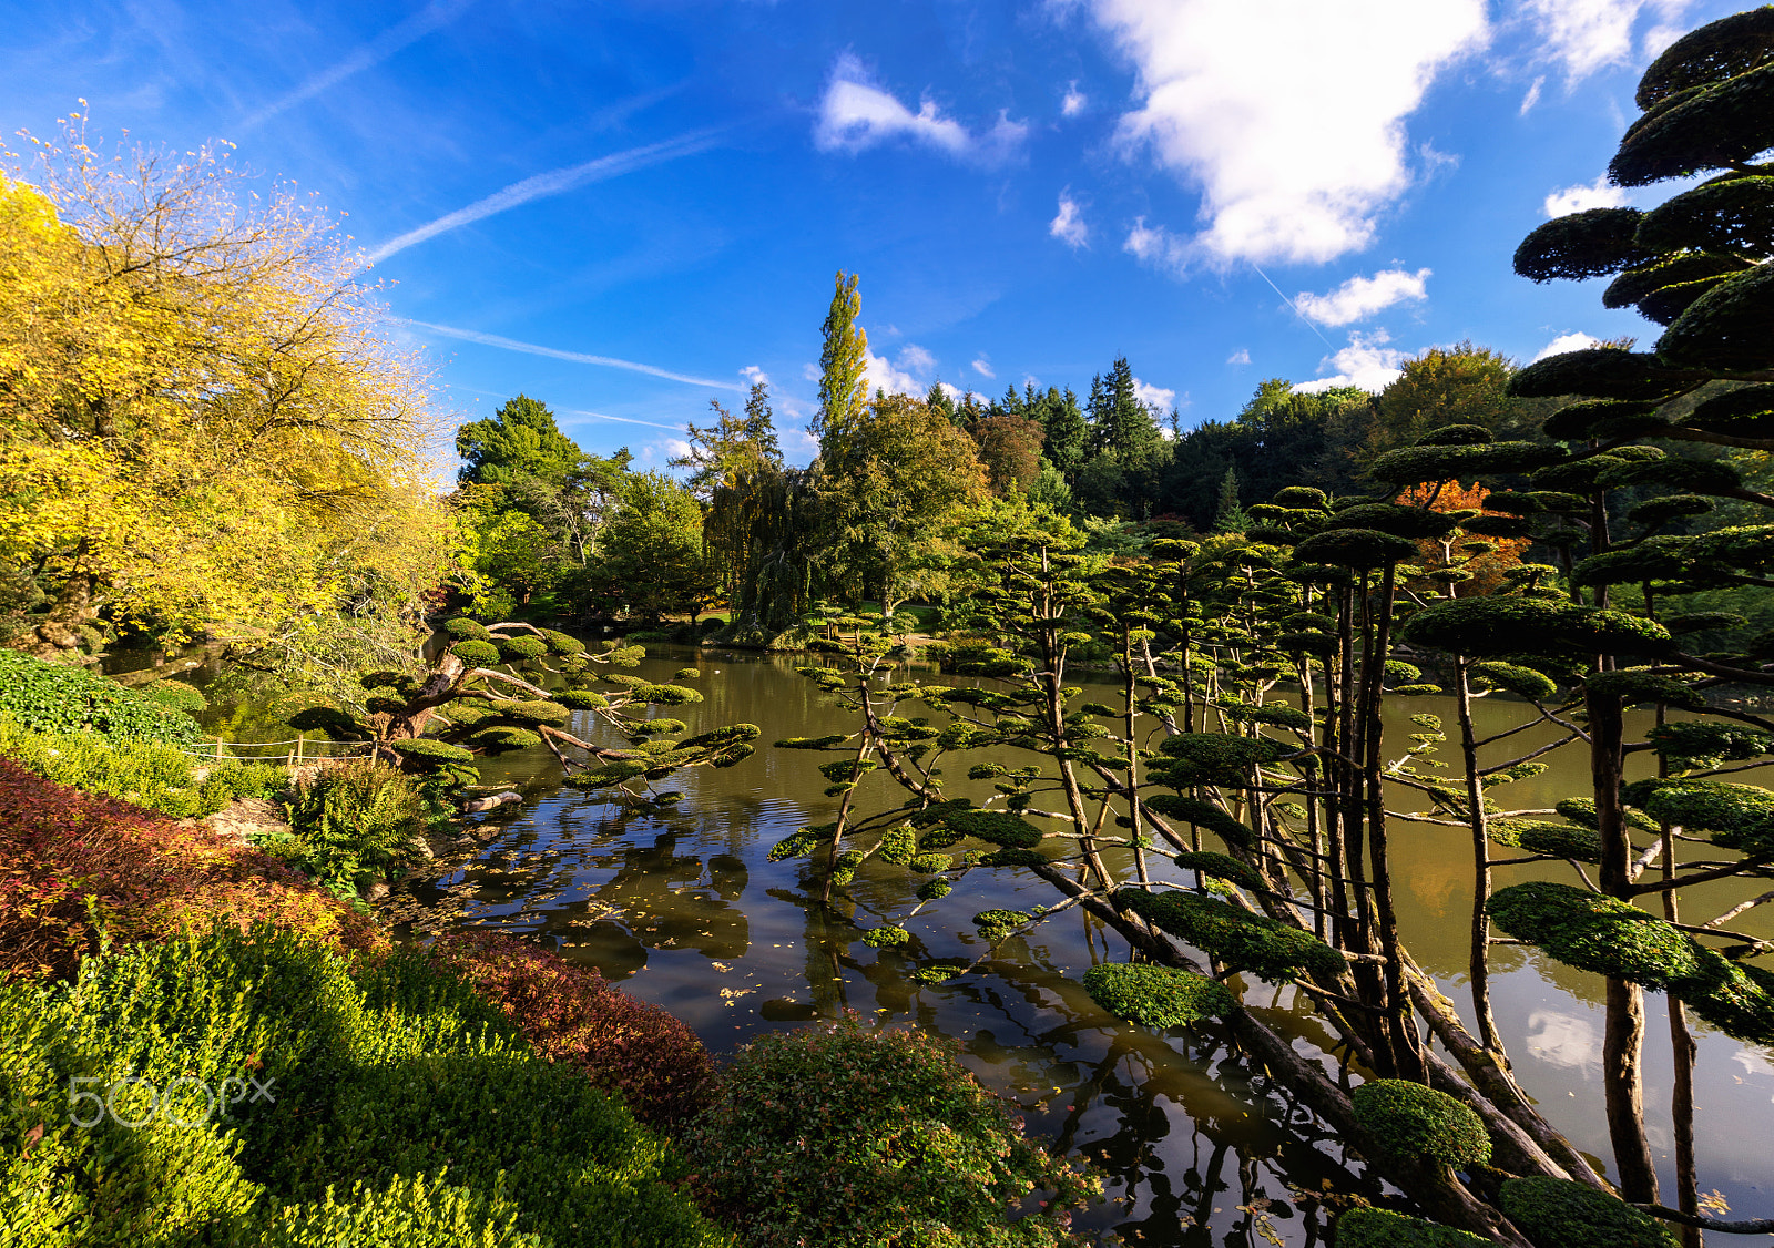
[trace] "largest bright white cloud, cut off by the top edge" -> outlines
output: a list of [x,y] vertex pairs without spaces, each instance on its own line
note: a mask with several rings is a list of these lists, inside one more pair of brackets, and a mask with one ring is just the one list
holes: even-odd
[[1221,266],[1366,246],[1412,181],[1405,119],[1490,34],[1483,0],[1091,0],[1091,11],[1139,74],[1123,142],[1201,188],[1206,227],[1190,250]]

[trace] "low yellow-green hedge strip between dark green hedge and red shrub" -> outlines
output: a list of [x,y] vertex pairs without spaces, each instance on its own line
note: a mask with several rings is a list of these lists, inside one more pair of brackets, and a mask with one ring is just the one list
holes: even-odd
[[44,780],[122,798],[174,819],[209,815],[234,798],[264,798],[286,784],[284,769],[268,762],[204,768],[177,746],[130,737],[114,741],[98,732],[30,732],[4,713],[0,753]]

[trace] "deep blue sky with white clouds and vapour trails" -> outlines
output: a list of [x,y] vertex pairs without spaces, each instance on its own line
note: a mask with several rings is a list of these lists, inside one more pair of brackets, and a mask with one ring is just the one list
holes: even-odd
[[658,464],[766,376],[811,441],[860,273],[889,388],[1080,394],[1126,355],[1185,425],[1258,381],[1378,388],[1471,339],[1652,337],[1510,255],[1597,176],[1708,0],[5,0],[0,124],[234,161],[346,213],[463,418],[527,392]]

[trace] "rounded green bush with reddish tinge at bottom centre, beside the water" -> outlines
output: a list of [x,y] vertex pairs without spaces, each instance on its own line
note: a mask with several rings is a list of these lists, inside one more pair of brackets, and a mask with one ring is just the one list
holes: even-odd
[[[687,1149],[704,1207],[756,1248],[1070,1244],[1100,1191],[1025,1140],[951,1044],[853,1016],[742,1049]],[[1034,1191],[1045,1207],[1017,1209]]]

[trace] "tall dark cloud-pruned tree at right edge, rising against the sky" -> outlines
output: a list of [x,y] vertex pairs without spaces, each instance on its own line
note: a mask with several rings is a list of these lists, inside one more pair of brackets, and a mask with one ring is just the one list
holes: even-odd
[[[1774,255],[1774,165],[1756,161],[1774,147],[1774,7],[1714,21],[1675,41],[1644,71],[1636,99],[1644,112],[1621,136],[1609,179],[1616,186],[1650,186],[1707,174],[1707,181],[1648,211],[1609,207],[1556,218],[1531,232],[1515,254],[1517,273],[1536,282],[1613,277],[1605,305],[1634,307],[1664,326],[1648,353],[1570,351],[1529,365],[1510,386],[1522,397],[1584,397],[1545,424],[1545,433],[1570,452],[1563,463],[1536,473],[1536,486],[1565,495],[1561,505],[1547,511],[1581,514],[1584,495],[1595,500],[1620,488],[1662,495],[1634,509],[1632,518],[1643,528],[1623,542],[1613,541],[1602,505],[1588,509],[1582,534],[1588,553],[1572,560],[1570,571],[1574,597],[1579,589],[1590,590],[1588,610],[1597,613],[1591,624],[1600,624],[1600,615],[1621,615],[1604,610],[1616,587],[1621,597],[1637,589],[1644,617],[1655,617],[1659,604],[1668,610],[1673,596],[1717,585],[1767,585],[1774,562],[1774,525],[1657,534],[1673,519],[1705,512],[1714,498],[1774,507],[1774,496],[1746,488],[1730,461],[1676,459],[1639,441],[1774,448],[1774,385],[1767,385],[1774,383],[1774,266],[1765,262]],[[1446,615],[1449,608],[1437,610]],[[1581,610],[1572,604],[1572,612]],[[1625,619],[1637,622],[1629,626]],[[1437,626],[1444,636],[1460,633],[1467,642],[1487,631],[1476,617],[1449,615],[1444,624]],[[1660,893],[1664,920],[1673,922],[1676,888],[1692,874],[1673,874],[1664,823],[1659,847],[1664,879],[1650,888],[1637,879],[1641,851],[1629,837],[1623,769],[1627,752],[1644,746],[1625,741],[1623,707],[1650,704],[1662,716],[1668,706],[1703,707],[1699,688],[1708,682],[1774,684],[1767,663],[1774,654],[1760,652],[1762,647],[1737,656],[1689,654],[1668,629],[1643,617],[1602,628],[1613,636],[1605,644],[1597,636],[1593,645],[1575,645],[1581,631],[1584,622],[1565,615],[1554,635],[1591,658],[1582,693],[1600,890],[1618,902]],[[1639,633],[1636,642],[1627,640],[1630,631]],[[1641,667],[1620,670],[1634,665]],[[1556,943],[1549,940],[1543,947],[1558,956]],[[1641,984],[1646,982],[1618,968],[1607,980],[1609,1131],[1621,1191],[1639,1202],[1657,1198],[1657,1172],[1639,1113]],[[1760,1000],[1762,991],[1758,977],[1746,971],[1733,977],[1726,994],[1744,1005]],[[1726,1014],[1737,1018],[1737,1034],[1754,1030],[1753,1018],[1740,1009]],[[1684,1092],[1692,1044],[1676,1002],[1669,1023],[1678,1053],[1676,1170],[1682,1209],[1692,1213],[1692,1112]]]

